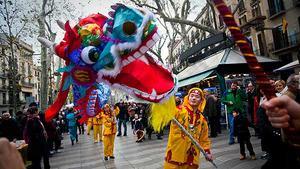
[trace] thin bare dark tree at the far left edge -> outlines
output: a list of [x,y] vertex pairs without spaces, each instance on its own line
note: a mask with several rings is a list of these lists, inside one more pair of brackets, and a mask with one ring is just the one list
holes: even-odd
[[0,32],[1,42],[3,46],[7,46],[9,54],[3,55],[3,63],[7,63],[7,77],[9,79],[9,100],[13,106],[13,114],[18,110],[20,85],[19,80],[21,74],[18,72],[16,50],[20,49],[19,39],[21,35],[28,29],[29,12],[22,9],[22,1],[0,0]]

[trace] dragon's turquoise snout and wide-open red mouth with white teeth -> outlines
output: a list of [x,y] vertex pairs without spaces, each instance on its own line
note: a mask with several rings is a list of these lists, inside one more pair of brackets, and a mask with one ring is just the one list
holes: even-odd
[[[152,13],[117,4],[105,29],[113,39],[107,44],[108,58],[115,58],[111,67],[98,71],[98,81],[127,91],[143,100],[160,102],[174,92],[176,78],[160,61],[148,54],[160,39]],[[114,43],[118,40],[117,43]],[[100,67],[95,64],[94,67]]]

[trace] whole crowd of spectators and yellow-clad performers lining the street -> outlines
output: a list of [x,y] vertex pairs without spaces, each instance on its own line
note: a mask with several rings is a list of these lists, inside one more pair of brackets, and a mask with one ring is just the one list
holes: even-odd
[[[206,159],[211,161],[209,138],[217,137],[221,133],[220,116],[223,103],[227,106],[228,144],[235,144],[236,141],[239,143],[240,160],[247,157],[245,145],[250,158],[256,159],[250,141],[251,127],[254,129],[254,136],[261,139],[261,148],[265,152],[260,157],[266,160],[262,169],[300,168],[300,139],[297,135],[300,130],[299,76],[291,75],[287,82],[277,80],[272,81],[272,84],[277,97],[269,101],[266,101],[263,91],[254,82],[249,82],[245,87],[232,82],[230,89],[221,98],[208,90],[192,88],[184,98],[182,95],[175,96],[175,119],[200,143],[206,152]],[[123,101],[114,106],[106,104],[97,116],[87,120],[86,133],[90,135],[92,129],[94,143],[103,142],[104,160],[114,159],[115,136],[127,136],[128,122],[137,143],[143,142],[146,136],[148,139],[152,138],[149,113],[149,104]],[[41,168],[43,159],[43,166],[47,169],[50,168],[49,157],[63,149],[63,133],[69,134],[72,145],[79,141],[78,134],[85,133],[84,124],[79,122],[80,118],[80,114],[69,107],[62,110],[52,121],[46,122],[44,114],[38,112],[37,104],[32,103],[26,110],[17,112],[15,117],[11,117],[8,112],[2,114],[0,137],[7,138],[11,143],[25,140],[28,144],[28,160],[32,161],[29,168]],[[177,124],[171,122],[169,128],[165,168],[197,168],[199,150]],[[163,130],[156,135],[158,139],[162,139]],[[7,144],[7,141],[1,139],[0,143]]]

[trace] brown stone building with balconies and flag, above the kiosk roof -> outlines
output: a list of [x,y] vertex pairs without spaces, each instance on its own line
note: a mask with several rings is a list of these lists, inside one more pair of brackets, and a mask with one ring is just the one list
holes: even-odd
[[[225,2],[231,11],[235,12],[235,20],[256,55],[280,59],[282,64],[299,59],[299,0],[225,0]],[[217,25],[217,30],[225,32],[230,37],[222,17],[216,8],[214,11],[216,19],[213,17],[213,11],[206,5],[195,21],[211,27]],[[188,46],[190,48],[211,35],[193,27],[189,29],[188,36],[191,41]],[[178,58],[188,48],[182,48],[182,43],[182,40],[178,40],[176,48],[170,51],[168,62],[172,67],[183,64]],[[287,72],[290,73],[292,72]]]

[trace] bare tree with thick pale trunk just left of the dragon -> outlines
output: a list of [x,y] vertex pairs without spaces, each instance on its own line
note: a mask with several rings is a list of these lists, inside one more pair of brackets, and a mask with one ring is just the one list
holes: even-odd
[[[56,39],[56,32],[54,31],[54,22],[57,19],[73,16],[72,13],[77,12],[73,10],[73,6],[68,1],[55,1],[55,0],[43,0],[42,4],[36,2],[37,6],[33,7],[35,11],[35,18],[38,23],[39,37],[48,39],[53,43]],[[41,45],[41,111],[44,112],[48,103],[52,103],[53,87],[49,85],[49,80],[54,79],[53,67],[53,51],[48,50],[46,46]],[[50,86],[50,88],[49,88]],[[48,97],[50,95],[50,97]],[[48,100],[50,98],[50,100]]]

